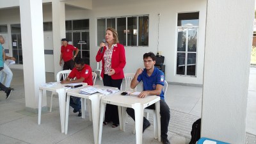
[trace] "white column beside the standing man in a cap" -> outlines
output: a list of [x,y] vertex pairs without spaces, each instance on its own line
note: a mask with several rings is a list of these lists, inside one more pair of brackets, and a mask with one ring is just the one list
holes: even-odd
[[62,67],[60,66],[61,38],[66,38],[65,27],[65,3],[63,1],[52,1],[52,33],[54,54],[54,77]]

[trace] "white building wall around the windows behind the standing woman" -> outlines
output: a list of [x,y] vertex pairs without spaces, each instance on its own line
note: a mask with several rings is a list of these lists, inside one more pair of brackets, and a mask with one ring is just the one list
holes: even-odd
[[[3,10],[0,10],[0,12]],[[143,54],[145,52],[157,53],[157,25],[158,13],[160,13],[159,23],[159,51],[165,56],[166,81],[177,83],[202,84],[204,67],[204,35],[205,35],[205,0],[140,0],[140,1],[92,1],[92,10],[82,10],[72,6],[66,6],[66,20],[90,19],[90,65],[92,69],[97,67],[95,55],[99,47],[97,46],[97,18],[115,17],[126,15],[149,14],[149,45],[148,47],[125,47],[127,64],[125,72],[136,72],[136,69],[143,67]],[[197,76],[175,76],[176,61],[176,33],[177,33],[177,13],[180,12],[200,12],[199,33],[198,33],[198,54],[197,54]],[[17,15],[19,14],[12,14]],[[10,22],[8,13],[4,15],[1,23]],[[1,17],[0,17],[1,18]],[[44,5],[44,21],[51,21],[51,5]],[[15,19],[15,23],[19,19]],[[104,36],[102,36],[104,38]]]

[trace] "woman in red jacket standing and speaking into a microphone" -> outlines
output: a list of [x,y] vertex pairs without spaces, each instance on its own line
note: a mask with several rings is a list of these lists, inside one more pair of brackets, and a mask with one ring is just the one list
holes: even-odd
[[[104,86],[116,87],[120,90],[124,79],[125,49],[124,45],[119,44],[116,29],[106,29],[106,43],[100,43],[100,49],[96,55],[96,61],[102,61],[101,77]],[[107,104],[105,111],[105,120],[103,125],[113,122],[112,127],[118,127],[118,107]]]

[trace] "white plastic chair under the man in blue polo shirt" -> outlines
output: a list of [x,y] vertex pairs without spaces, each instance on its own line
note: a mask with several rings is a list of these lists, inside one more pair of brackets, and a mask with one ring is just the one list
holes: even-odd
[[[167,81],[164,81],[164,86],[163,86],[163,92],[164,92],[164,97],[166,95],[167,92],[167,88],[168,88],[168,83]],[[143,91],[143,84],[141,84],[141,91]],[[157,119],[156,119],[156,110],[155,109],[144,109],[144,115],[146,115],[145,117],[148,120],[148,113],[152,113],[153,114],[153,122],[154,122],[154,136],[155,139],[157,139]],[[133,133],[135,134],[135,125],[134,125],[134,130]]]

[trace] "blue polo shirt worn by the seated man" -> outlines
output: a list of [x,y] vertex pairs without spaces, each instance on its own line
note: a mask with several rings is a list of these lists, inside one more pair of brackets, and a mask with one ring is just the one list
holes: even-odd
[[[151,76],[148,76],[146,68],[143,69],[143,72],[138,76],[137,81],[143,82],[143,90],[156,90],[156,84],[161,84],[164,86],[164,73],[158,68],[154,67],[154,72]],[[164,100],[164,92],[162,89],[161,94],[159,95],[161,99]]]

